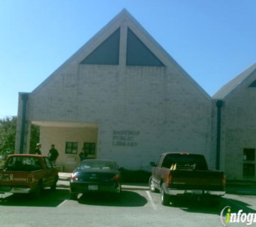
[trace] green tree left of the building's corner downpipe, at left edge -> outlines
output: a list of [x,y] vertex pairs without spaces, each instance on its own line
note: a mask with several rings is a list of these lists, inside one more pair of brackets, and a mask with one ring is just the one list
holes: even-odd
[[0,153],[10,154],[15,151],[17,117],[0,119]]

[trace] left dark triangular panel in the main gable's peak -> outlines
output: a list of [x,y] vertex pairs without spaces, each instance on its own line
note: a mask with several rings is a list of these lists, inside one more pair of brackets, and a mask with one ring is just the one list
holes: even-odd
[[118,65],[119,64],[120,29],[102,42],[81,64]]

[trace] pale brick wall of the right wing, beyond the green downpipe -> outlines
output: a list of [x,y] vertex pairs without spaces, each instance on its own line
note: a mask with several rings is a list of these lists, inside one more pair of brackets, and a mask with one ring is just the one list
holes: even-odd
[[243,177],[243,149],[256,149],[256,88],[248,88],[255,78],[254,72],[224,101],[222,152],[227,178],[233,180],[256,180]]

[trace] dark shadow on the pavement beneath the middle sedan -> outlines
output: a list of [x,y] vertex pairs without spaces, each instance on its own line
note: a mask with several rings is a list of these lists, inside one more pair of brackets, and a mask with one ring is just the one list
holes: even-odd
[[109,194],[84,194],[78,202],[86,205],[103,205],[109,207],[143,207],[148,201],[134,191],[122,190],[119,198]]

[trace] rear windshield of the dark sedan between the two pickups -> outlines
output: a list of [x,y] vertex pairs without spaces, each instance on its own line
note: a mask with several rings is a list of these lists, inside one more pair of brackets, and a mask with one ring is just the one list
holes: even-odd
[[113,170],[116,165],[111,161],[84,161],[78,166],[79,171],[94,169],[94,170]]

